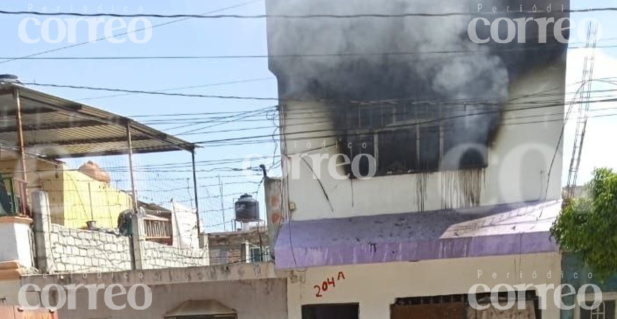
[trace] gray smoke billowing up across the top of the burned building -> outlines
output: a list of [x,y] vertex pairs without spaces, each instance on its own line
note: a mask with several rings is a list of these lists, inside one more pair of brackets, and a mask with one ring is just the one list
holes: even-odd
[[[547,1],[550,0],[480,2],[488,14],[492,6],[505,11],[508,6],[518,8],[523,4],[526,10],[531,10],[533,4],[542,7]],[[267,12],[270,15],[476,14],[478,3],[478,0],[268,0]],[[561,2],[556,1],[553,6],[561,6]],[[524,14],[509,17],[521,16]],[[555,60],[565,51],[559,46],[552,51],[534,52],[532,49],[540,44],[532,41],[473,43],[468,26],[474,17],[270,17],[268,50],[273,56],[270,69],[278,77],[281,99],[325,99],[333,104],[386,99],[431,100],[450,107],[450,114],[445,117],[482,114],[452,119],[450,126],[466,132],[458,134],[455,143],[486,144],[499,123],[498,111],[508,98],[512,78]],[[497,17],[500,16],[492,15],[489,20]],[[505,23],[499,30],[501,35],[506,31],[504,28]],[[482,38],[487,38],[488,33],[488,27],[479,30]],[[536,36],[537,30],[528,27],[527,38]],[[444,51],[453,53],[436,53]],[[294,54],[338,55],[277,57]],[[431,116],[436,117],[438,108],[431,107],[431,110],[434,112]],[[492,112],[495,110],[497,112]],[[339,124],[344,126],[342,121]]]

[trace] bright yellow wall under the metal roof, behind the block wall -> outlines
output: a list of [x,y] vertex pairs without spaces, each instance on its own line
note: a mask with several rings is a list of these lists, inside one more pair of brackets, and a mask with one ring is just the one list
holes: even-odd
[[115,228],[118,215],[131,208],[131,197],[107,183],[74,170],[64,170],[64,226],[81,228],[89,220]]

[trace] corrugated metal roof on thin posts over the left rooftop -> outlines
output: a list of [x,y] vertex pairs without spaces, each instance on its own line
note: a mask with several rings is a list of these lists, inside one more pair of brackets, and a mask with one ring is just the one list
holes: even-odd
[[62,99],[14,83],[0,84],[0,143],[17,147],[19,90],[27,151],[51,158],[128,153],[130,126],[134,153],[193,150],[196,145],[130,118]]

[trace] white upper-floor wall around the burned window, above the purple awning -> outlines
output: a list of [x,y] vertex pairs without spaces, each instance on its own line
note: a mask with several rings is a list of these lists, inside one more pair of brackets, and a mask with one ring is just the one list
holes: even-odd
[[[502,112],[502,126],[489,149],[489,165],[479,180],[480,205],[558,199],[561,196],[561,143],[565,70],[563,65],[530,72],[510,85],[512,102]],[[534,94],[543,94],[536,95]],[[531,95],[531,96],[530,96]],[[550,107],[540,107],[540,104]],[[523,109],[523,107],[531,107]],[[321,145],[330,146],[308,154],[341,153],[330,131],[325,106],[320,102],[286,102],[284,133],[286,154],[300,154]],[[309,113],[312,112],[312,113]],[[528,123],[531,122],[531,123]],[[522,123],[522,124],[521,124]],[[300,133],[313,131],[313,133]],[[557,154],[550,169],[555,154]],[[312,160],[305,157],[309,164]],[[437,172],[373,177],[370,180],[337,180],[328,173],[328,160],[313,167],[320,183],[302,160],[291,160],[288,175],[289,201],[295,204],[294,220],[377,215],[437,210],[459,205],[462,187],[457,172]],[[345,173],[341,170],[341,175]],[[295,177],[294,177],[295,176]],[[547,186],[548,181],[548,186]],[[329,200],[326,200],[325,193]],[[423,204],[423,205],[421,205]]]

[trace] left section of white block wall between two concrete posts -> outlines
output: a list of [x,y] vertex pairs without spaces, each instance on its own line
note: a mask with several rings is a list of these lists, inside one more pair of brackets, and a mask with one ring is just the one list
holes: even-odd
[[130,238],[51,224],[49,272],[107,272],[131,269]]

